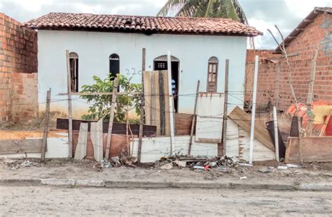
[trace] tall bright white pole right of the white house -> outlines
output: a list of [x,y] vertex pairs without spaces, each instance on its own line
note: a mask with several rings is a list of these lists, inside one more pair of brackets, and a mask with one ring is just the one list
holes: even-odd
[[258,56],[256,56],[256,58],[255,58],[254,91],[253,91],[253,96],[252,96],[252,109],[251,109],[251,130],[250,130],[250,144],[249,144],[249,163],[250,164],[252,164],[252,158],[254,155],[257,77],[258,77]]

